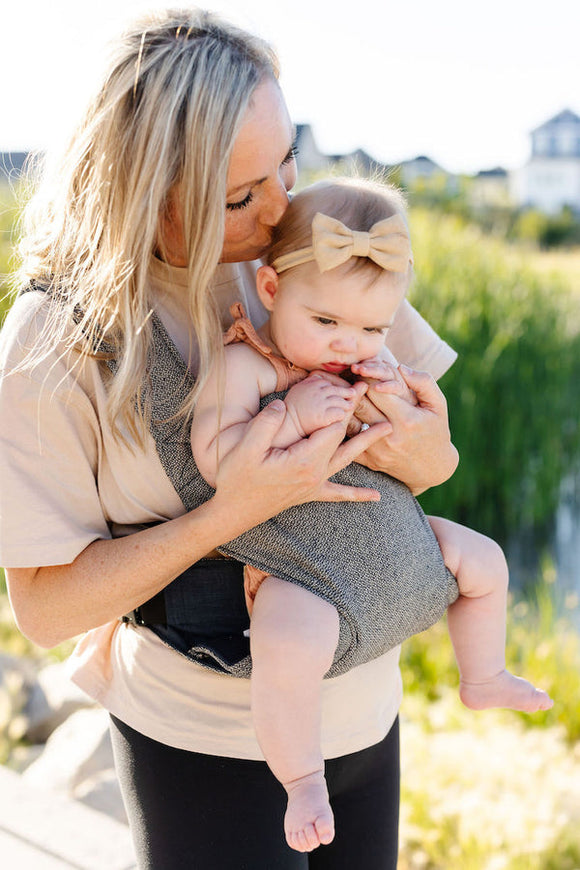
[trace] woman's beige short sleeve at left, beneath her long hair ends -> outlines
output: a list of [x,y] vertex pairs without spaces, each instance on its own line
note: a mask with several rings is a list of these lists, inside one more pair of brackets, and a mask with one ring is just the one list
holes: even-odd
[[97,486],[99,427],[88,396],[58,357],[14,371],[38,308],[38,300],[18,300],[0,337],[4,567],[68,564],[92,541],[110,537]]

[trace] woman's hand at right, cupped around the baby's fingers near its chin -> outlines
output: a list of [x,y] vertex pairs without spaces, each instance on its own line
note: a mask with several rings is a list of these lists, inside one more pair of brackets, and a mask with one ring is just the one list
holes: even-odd
[[458,453],[449,433],[447,402],[435,380],[426,372],[399,366],[407,388],[417,397],[412,405],[402,396],[399,382],[381,385],[379,410],[366,396],[356,411],[369,425],[388,420],[392,430],[366,448],[357,462],[402,480],[417,495],[443,483],[457,468]]

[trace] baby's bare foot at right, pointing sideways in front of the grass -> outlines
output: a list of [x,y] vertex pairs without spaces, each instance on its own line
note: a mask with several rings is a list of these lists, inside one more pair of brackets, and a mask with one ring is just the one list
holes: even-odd
[[542,689],[536,689],[527,680],[515,677],[505,670],[481,683],[461,680],[459,696],[471,710],[505,707],[508,710],[521,710],[523,713],[537,713],[538,710],[549,710],[554,704]]

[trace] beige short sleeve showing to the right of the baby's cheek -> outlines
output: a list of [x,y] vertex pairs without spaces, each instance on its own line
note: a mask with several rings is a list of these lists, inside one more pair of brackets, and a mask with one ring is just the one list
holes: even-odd
[[386,344],[399,362],[434,378],[444,375],[457,359],[455,351],[406,299],[397,310]]

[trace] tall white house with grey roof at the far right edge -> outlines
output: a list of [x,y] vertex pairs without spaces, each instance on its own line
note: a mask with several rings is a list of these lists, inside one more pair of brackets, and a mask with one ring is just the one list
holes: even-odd
[[564,109],[531,133],[532,153],[513,173],[518,205],[558,214],[564,206],[580,212],[580,117]]

